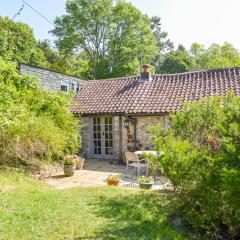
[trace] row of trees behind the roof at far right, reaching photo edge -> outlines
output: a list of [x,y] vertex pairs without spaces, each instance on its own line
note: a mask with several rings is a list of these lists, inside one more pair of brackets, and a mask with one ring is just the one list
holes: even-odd
[[240,52],[230,43],[224,43],[222,46],[214,43],[208,48],[193,43],[190,51],[180,47],[166,53],[160,72],[181,73],[238,66],[240,66]]

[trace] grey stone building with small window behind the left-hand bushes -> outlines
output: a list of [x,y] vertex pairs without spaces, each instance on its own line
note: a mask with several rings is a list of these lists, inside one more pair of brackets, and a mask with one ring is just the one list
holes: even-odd
[[22,75],[33,75],[37,77],[43,88],[54,92],[61,91],[61,86],[65,86],[67,88],[67,92],[76,92],[77,89],[84,83],[83,80],[70,75],[23,63],[19,65],[19,70]]

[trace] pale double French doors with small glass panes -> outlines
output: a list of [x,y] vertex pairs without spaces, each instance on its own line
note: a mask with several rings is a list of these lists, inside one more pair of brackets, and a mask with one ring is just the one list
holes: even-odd
[[91,152],[93,158],[114,158],[112,117],[92,118]]

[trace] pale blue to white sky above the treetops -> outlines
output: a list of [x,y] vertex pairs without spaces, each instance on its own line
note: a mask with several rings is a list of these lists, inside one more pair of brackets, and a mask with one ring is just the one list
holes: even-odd
[[[51,21],[65,13],[66,0],[26,1]],[[212,43],[230,42],[240,49],[240,0],[127,1],[144,14],[160,16],[162,28],[175,46],[183,44],[189,48],[193,42],[199,42],[207,47]],[[22,0],[0,0],[0,15],[12,18],[22,5]],[[14,21],[27,23],[37,39],[54,39],[49,34],[53,25],[27,5]]]

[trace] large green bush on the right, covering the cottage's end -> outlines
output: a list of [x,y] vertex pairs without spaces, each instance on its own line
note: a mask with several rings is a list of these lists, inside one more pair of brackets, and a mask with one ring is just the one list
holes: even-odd
[[240,236],[239,119],[240,99],[229,93],[186,103],[168,132],[152,129],[182,216],[214,239]]

